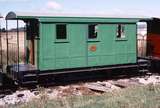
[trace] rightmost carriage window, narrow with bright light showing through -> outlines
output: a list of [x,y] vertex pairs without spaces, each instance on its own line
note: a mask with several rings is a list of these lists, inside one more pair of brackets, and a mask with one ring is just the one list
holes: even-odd
[[117,26],[117,38],[125,38],[125,26],[122,24]]

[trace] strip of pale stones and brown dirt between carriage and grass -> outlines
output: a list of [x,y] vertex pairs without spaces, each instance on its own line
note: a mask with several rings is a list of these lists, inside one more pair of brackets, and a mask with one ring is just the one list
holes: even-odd
[[26,103],[34,99],[40,99],[44,96],[49,99],[58,99],[69,96],[102,95],[103,93],[121,90],[132,86],[145,86],[149,84],[159,85],[160,76],[151,75],[129,79],[78,83],[49,88],[37,87],[37,89],[34,90],[18,90],[13,94],[0,98],[0,106]]

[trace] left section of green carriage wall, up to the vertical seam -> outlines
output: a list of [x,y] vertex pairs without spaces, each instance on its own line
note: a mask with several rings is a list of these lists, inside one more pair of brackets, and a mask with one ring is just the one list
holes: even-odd
[[87,66],[86,25],[67,24],[67,42],[55,40],[55,24],[44,23],[41,26],[41,70]]

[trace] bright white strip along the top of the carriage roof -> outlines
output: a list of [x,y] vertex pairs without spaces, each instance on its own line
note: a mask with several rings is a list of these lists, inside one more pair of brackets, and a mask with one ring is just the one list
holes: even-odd
[[[11,12],[9,12],[11,13]],[[9,14],[8,13],[8,14]],[[40,12],[12,12],[17,16],[33,16],[33,17],[99,17],[99,18],[151,18],[150,16],[133,15],[133,14],[102,14],[102,13],[40,13]]]

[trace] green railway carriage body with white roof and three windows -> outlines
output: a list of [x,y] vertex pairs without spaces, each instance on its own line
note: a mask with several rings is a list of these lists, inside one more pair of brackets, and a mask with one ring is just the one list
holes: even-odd
[[[54,74],[57,70],[137,66],[137,22],[140,19],[15,12],[6,16],[6,20],[26,23],[26,57],[23,66],[18,59],[18,72],[25,70],[26,65],[29,66],[27,71],[35,69],[43,74],[49,71]],[[17,71],[14,66],[9,70]]]

